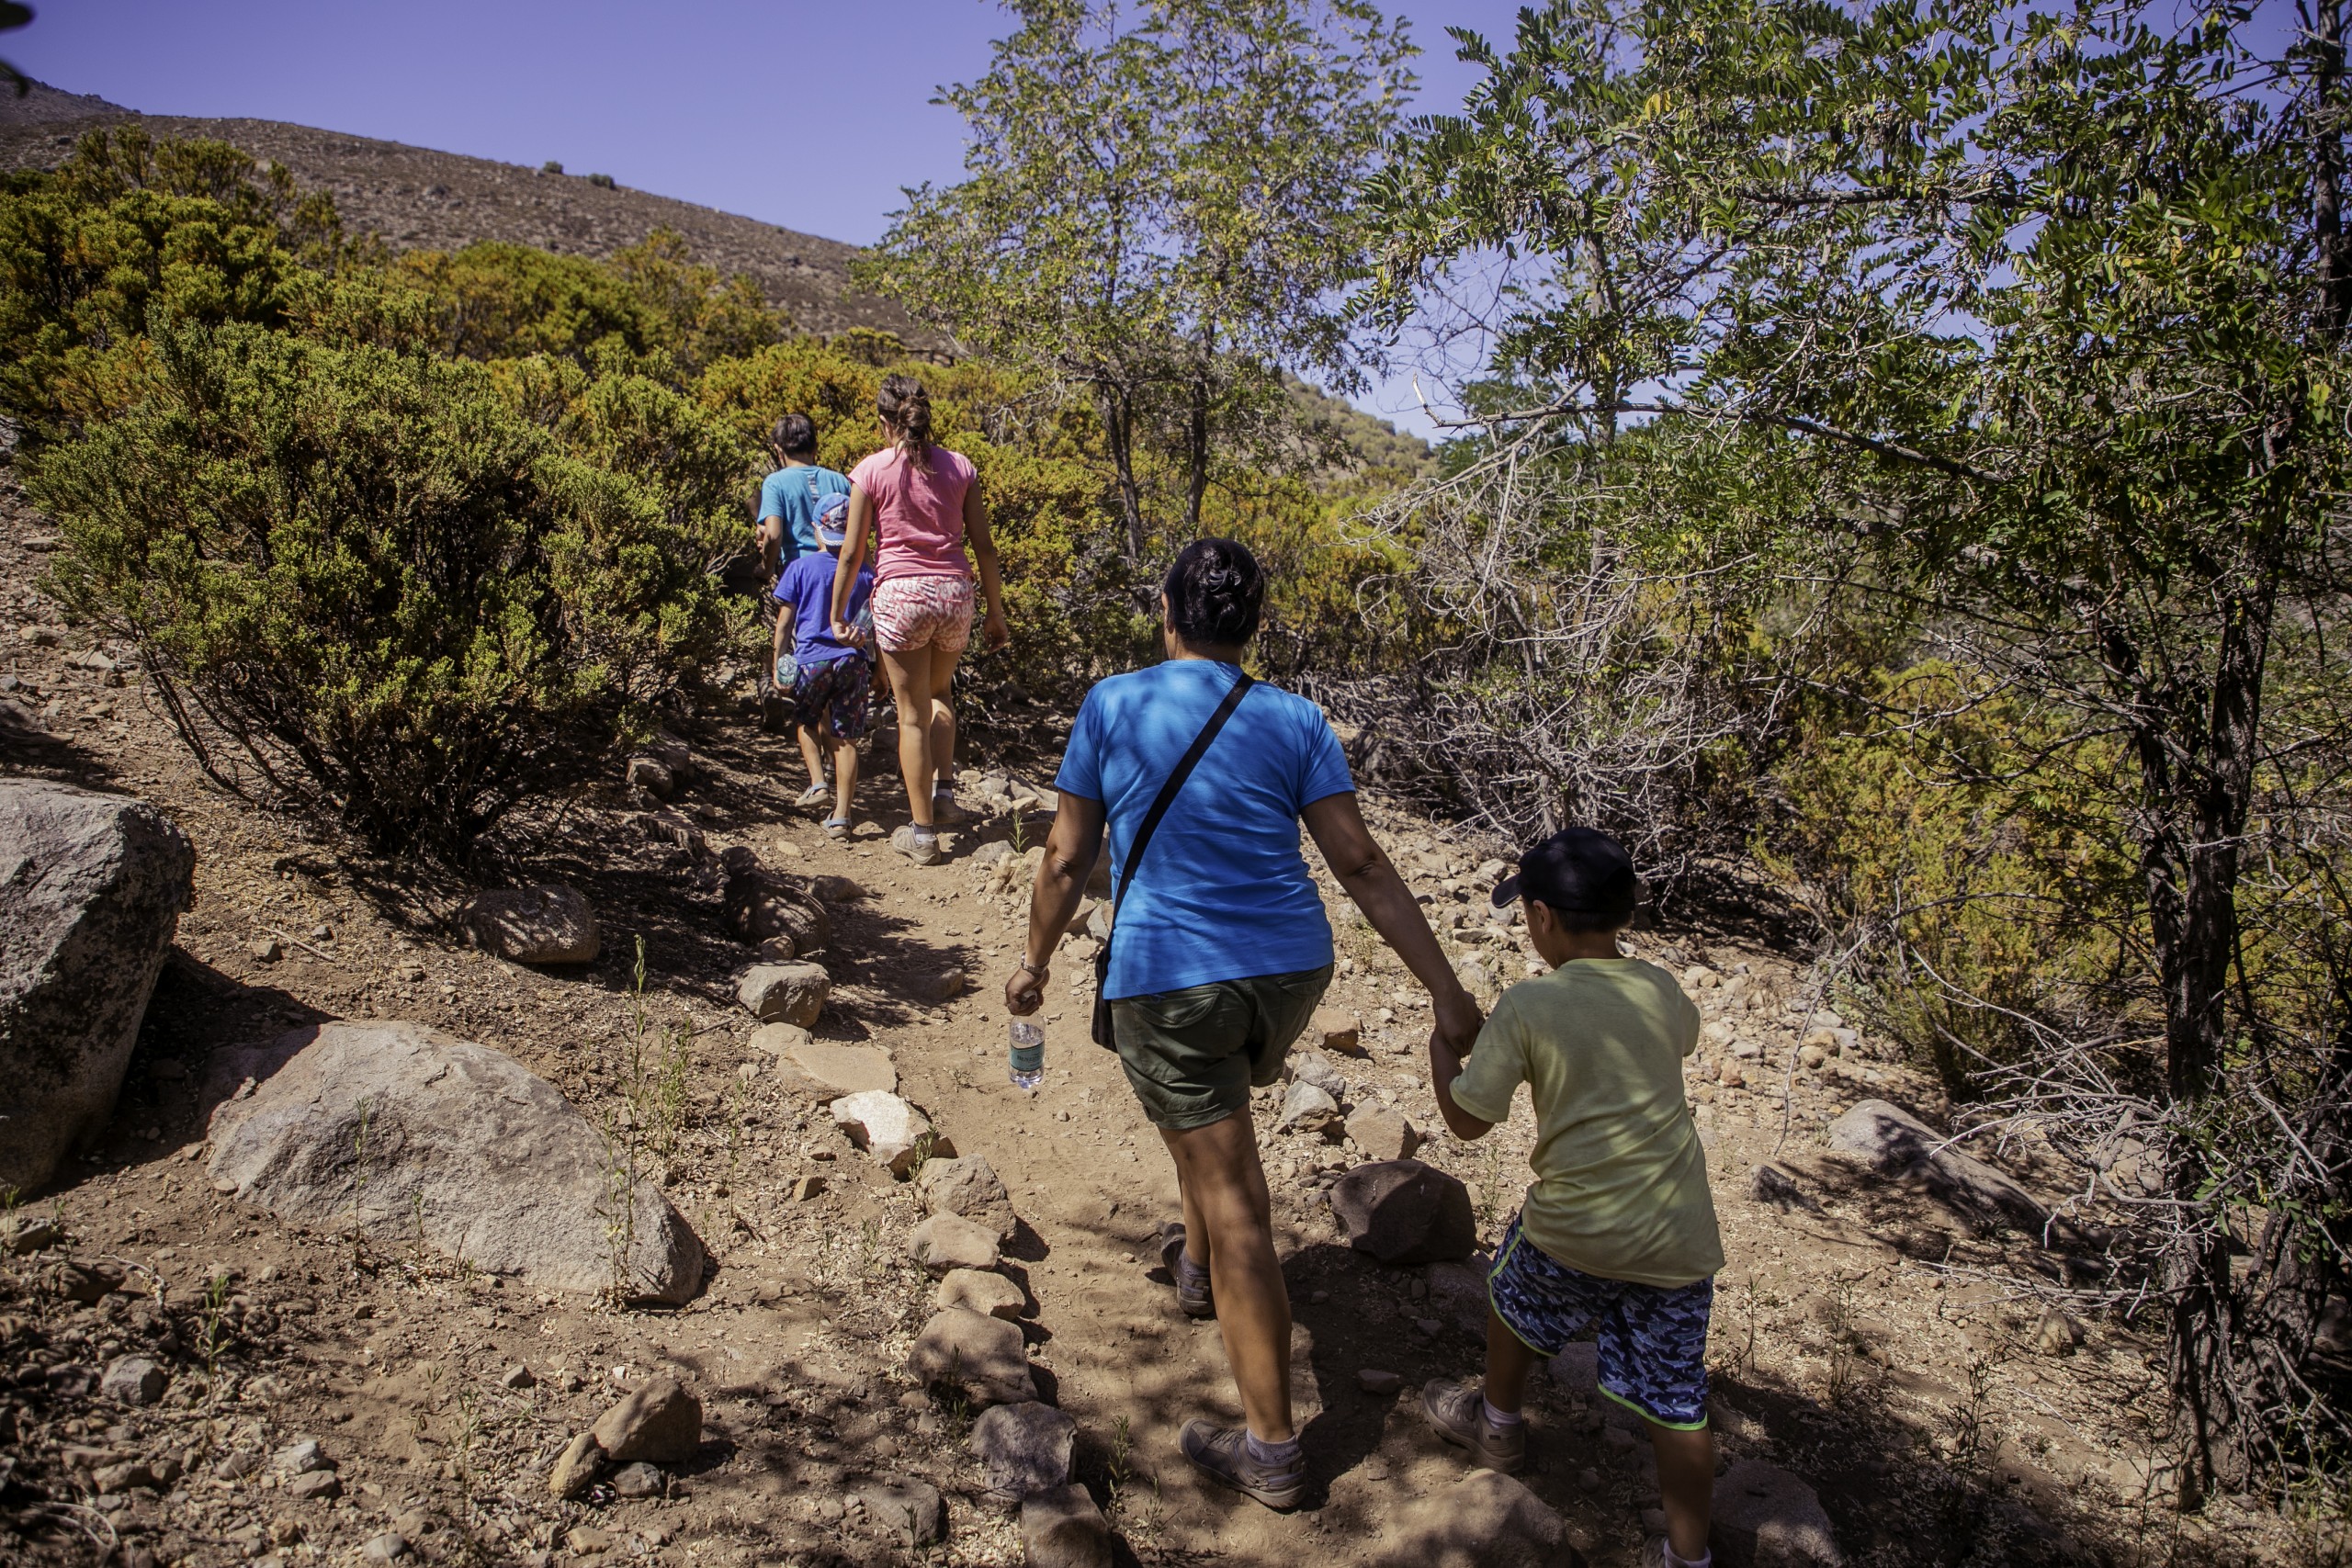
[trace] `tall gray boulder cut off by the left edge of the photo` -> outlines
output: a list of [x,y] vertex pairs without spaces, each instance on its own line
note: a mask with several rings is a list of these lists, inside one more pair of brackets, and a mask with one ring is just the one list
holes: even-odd
[[146,802],[0,778],[0,1187],[106,1131],[193,872]]

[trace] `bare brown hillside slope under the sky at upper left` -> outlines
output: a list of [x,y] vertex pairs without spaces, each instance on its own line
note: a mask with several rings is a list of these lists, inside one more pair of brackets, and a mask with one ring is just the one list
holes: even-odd
[[212,136],[282,162],[303,188],[334,193],[350,228],[379,233],[400,249],[515,240],[572,256],[609,256],[656,228],[675,228],[699,261],[760,280],[769,301],[790,310],[804,331],[873,327],[898,334],[910,348],[948,348],[896,303],[849,287],[854,244],[666,195],[593,186],[586,174],[541,174],[278,120],[136,115],[54,87],[35,87],[24,99],[0,94],[0,169],[52,167],[85,129],[106,120],[139,120],[155,136]]

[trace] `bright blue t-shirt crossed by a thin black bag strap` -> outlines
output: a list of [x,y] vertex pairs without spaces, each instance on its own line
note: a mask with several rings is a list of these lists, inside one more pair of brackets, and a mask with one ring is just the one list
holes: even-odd
[[[1171,658],[1112,675],[1080,705],[1054,788],[1103,802],[1112,886],[1160,785],[1237,675]],[[1117,910],[1103,994],[1150,997],[1329,964],[1331,922],[1298,853],[1298,813],[1352,790],[1322,708],[1251,686],[1152,830]]]

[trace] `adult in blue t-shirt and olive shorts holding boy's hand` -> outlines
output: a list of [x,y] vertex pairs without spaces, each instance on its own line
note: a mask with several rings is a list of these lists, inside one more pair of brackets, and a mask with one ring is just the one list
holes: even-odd
[[[1117,886],[1162,785],[1242,679],[1242,644],[1263,602],[1265,574],[1244,545],[1185,545],[1160,595],[1167,663],[1087,693],[1054,780],[1061,811],[1030,893],[1028,950],[1004,983],[1016,1016],[1044,997],[1047,959],[1105,827]],[[1183,1190],[1162,1262],[1183,1309],[1218,1321],[1247,1415],[1247,1427],[1192,1420],[1181,1446],[1275,1509],[1298,1505],[1305,1460],[1291,1429],[1291,1305],[1249,1091],[1279,1081],[1331,983],[1331,924],[1298,853],[1301,820],[1374,931],[1430,987],[1437,1034],[1468,1051],[1477,1004],[1364,827],[1331,724],[1315,703],[1263,684],[1242,693],[1152,830],[1117,907],[1103,987],[1120,1065]]]

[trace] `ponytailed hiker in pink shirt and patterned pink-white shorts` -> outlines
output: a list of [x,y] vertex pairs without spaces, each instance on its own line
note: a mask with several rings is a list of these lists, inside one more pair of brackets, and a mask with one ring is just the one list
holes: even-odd
[[[971,458],[931,444],[931,395],[913,376],[887,376],[875,409],[891,444],[849,470],[849,538],[833,576],[833,635],[854,637],[842,614],[866,559],[866,541],[880,536],[875,644],[898,698],[898,771],[906,773],[915,818],[891,835],[891,849],[915,865],[931,865],[938,860],[938,759],[955,755],[948,682],[971,642],[974,559],[988,595],[983,644],[1004,646],[1011,630],[997,590],[988,501]],[[967,536],[971,559],[964,559]]]

